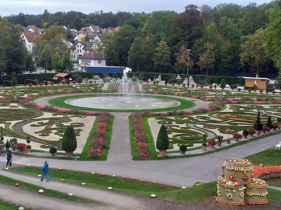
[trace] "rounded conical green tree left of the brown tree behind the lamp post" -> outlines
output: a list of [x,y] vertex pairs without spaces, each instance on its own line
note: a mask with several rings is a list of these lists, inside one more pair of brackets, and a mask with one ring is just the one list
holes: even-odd
[[170,54],[170,48],[167,43],[161,40],[153,56],[154,68],[161,73],[165,73],[169,68],[172,68]]

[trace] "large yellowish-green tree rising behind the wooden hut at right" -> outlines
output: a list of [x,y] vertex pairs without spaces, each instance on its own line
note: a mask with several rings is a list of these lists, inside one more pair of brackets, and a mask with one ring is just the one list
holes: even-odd
[[243,65],[248,63],[253,72],[263,72],[262,65],[268,60],[264,47],[265,39],[262,28],[255,31],[255,34],[248,35],[247,41],[242,45],[240,61]]

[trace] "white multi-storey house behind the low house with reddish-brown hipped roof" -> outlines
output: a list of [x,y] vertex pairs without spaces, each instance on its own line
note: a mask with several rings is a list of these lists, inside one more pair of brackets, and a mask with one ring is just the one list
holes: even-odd
[[72,61],[77,61],[78,58],[84,55],[87,52],[90,52],[91,48],[97,48],[95,42],[80,42],[76,41],[69,49],[70,49],[70,58]]

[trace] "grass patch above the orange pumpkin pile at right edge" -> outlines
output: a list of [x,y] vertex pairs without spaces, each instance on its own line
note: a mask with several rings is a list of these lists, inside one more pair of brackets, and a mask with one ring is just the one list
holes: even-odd
[[262,152],[255,153],[246,157],[255,165],[281,165],[281,151],[275,148],[270,148]]

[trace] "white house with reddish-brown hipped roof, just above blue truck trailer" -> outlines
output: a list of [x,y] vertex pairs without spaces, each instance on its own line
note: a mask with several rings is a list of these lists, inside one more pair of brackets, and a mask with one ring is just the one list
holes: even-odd
[[84,70],[86,70],[86,66],[105,66],[106,59],[97,52],[90,51],[79,57],[77,66]]

